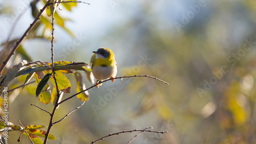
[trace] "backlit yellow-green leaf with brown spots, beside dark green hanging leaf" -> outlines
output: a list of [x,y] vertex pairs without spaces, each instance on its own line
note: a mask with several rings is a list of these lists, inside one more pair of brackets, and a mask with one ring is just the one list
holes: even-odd
[[[52,73],[52,70],[45,70],[46,73]],[[70,93],[71,92],[71,84],[69,79],[62,74],[59,71],[55,71],[55,78],[58,84],[58,90],[65,92],[65,93]],[[53,85],[56,87],[55,81],[53,76],[50,78],[51,82]]]

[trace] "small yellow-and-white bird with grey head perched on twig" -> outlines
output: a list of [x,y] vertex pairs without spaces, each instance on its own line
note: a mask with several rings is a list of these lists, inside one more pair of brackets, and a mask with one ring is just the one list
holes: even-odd
[[113,52],[105,47],[100,47],[93,53],[91,62],[93,76],[97,80],[96,87],[99,88],[99,82],[106,79],[111,79],[113,83],[117,73],[117,64]]

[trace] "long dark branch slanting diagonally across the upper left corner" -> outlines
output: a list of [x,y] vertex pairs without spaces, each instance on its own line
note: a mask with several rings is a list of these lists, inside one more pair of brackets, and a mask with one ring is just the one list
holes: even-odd
[[18,45],[22,42],[22,40],[28,35],[29,31],[33,28],[33,26],[35,25],[35,23],[38,21],[38,19],[40,18],[42,12],[47,8],[48,4],[51,2],[51,0],[48,0],[46,5],[39,11],[38,15],[36,16],[35,20],[30,24],[29,28],[26,30],[26,32],[23,34],[23,36],[16,41],[16,44],[14,45],[11,53],[8,55],[8,57],[6,58],[6,60],[3,62],[2,66],[0,67],[0,74],[2,74],[2,71],[4,70],[7,62],[10,60],[11,56],[14,54],[14,52],[17,50]]

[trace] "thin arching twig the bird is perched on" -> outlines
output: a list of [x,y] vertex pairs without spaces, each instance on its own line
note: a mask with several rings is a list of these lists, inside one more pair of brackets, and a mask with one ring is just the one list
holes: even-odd
[[[156,77],[152,77],[152,76],[148,76],[148,75],[124,76],[124,77],[116,77],[116,78],[114,78],[114,79],[133,78],[133,77],[148,77],[148,78],[152,78],[152,79],[158,80],[158,81],[160,81],[160,82],[163,82],[163,83],[165,83],[165,84],[168,84],[167,82],[165,82],[165,81],[163,81],[163,80],[160,80],[160,79],[158,79],[158,78],[156,78]],[[110,81],[110,80],[111,80],[111,79],[104,80],[104,81],[102,81],[102,82],[99,82],[99,84],[104,83],[104,82],[107,82],[107,81]],[[73,98],[73,97],[75,97],[76,95],[78,95],[78,94],[80,94],[80,93],[82,93],[82,92],[84,92],[84,91],[87,91],[87,90],[89,90],[89,89],[92,89],[93,87],[96,87],[96,84],[93,85],[93,86],[91,86],[91,87],[89,87],[89,88],[87,88],[87,89],[84,89],[84,90],[82,90],[82,91],[80,91],[80,92],[77,92],[77,93],[74,94],[74,95],[71,95],[69,98],[67,98],[67,99],[62,100],[61,102],[59,102],[58,105],[61,104],[61,103],[63,103],[63,102],[65,102],[65,101],[67,101],[67,100],[69,100],[69,99],[71,99],[71,98]]]

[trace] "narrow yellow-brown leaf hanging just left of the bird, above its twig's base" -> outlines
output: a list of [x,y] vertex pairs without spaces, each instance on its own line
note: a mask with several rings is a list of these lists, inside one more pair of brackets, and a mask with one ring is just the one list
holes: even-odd
[[[78,72],[74,73],[74,77],[76,80],[76,92],[80,92],[84,89],[86,89],[86,84],[83,83],[82,75]],[[88,101],[89,100],[89,92],[84,91],[77,95],[77,98],[80,101]]]

